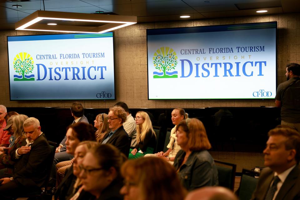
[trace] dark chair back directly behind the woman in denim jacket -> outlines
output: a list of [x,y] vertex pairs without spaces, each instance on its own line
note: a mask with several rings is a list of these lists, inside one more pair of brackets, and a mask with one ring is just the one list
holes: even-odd
[[233,191],[237,165],[219,160],[214,160],[214,162],[218,170],[219,186],[227,187]]

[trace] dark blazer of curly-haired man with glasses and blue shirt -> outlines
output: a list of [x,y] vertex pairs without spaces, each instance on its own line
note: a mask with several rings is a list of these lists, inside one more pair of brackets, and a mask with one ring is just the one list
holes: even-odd
[[[108,134],[110,132],[106,133],[103,137],[103,140],[108,137]],[[130,149],[130,143],[128,139],[128,134],[126,133],[123,126],[118,128],[118,130],[112,135],[112,137],[109,138],[109,140],[106,142],[106,144],[112,144],[113,146],[117,147],[122,153],[125,155],[128,155],[129,149]]]

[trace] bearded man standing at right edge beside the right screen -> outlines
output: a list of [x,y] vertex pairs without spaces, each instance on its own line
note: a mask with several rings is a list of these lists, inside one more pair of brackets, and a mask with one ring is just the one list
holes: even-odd
[[281,107],[281,124],[300,132],[300,65],[287,65],[287,81],[279,84],[275,105]]

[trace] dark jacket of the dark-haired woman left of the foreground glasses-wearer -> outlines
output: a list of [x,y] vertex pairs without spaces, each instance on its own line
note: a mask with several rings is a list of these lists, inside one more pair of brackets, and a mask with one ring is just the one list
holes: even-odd
[[58,185],[57,190],[54,194],[54,199],[59,198],[60,200],[67,199],[73,194],[74,184],[76,182],[76,176],[73,174],[73,165],[68,169],[62,182]]

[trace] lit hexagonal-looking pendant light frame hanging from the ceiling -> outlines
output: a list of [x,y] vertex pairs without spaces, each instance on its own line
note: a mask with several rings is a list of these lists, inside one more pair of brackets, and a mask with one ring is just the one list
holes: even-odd
[[[47,22],[58,25],[48,25]],[[59,25],[63,23],[63,25]],[[74,25],[76,23],[85,25]],[[137,23],[136,16],[87,14],[38,10],[15,23],[16,30],[104,33]],[[93,24],[93,26],[91,26]]]

